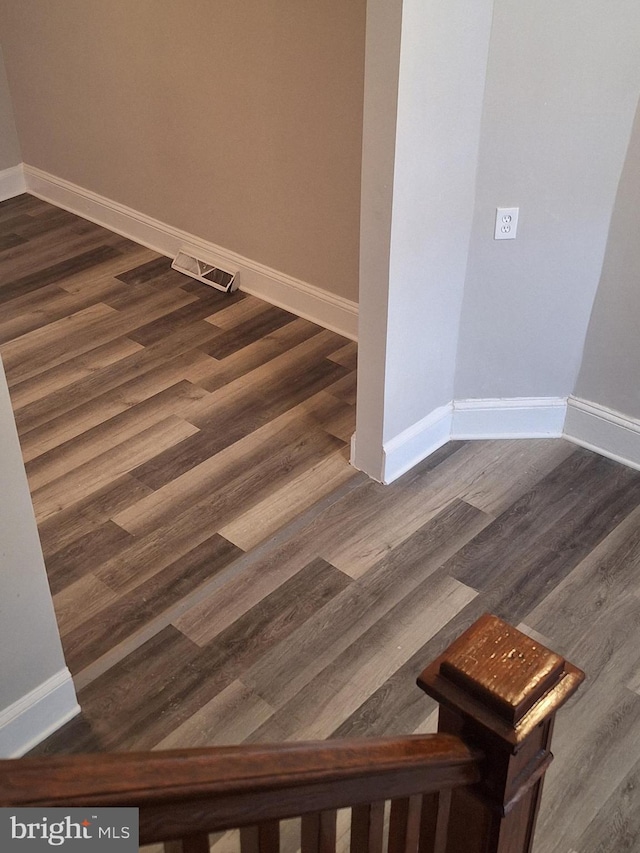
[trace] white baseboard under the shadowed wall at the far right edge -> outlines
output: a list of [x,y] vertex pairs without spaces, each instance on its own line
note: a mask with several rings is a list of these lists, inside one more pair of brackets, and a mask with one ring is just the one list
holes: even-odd
[[640,470],[640,420],[606,406],[569,397],[564,437]]

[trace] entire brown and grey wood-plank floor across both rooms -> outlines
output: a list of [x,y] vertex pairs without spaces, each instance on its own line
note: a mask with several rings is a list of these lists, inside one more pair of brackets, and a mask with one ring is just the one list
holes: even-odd
[[640,851],[639,472],[454,442],[376,484],[354,344],[28,196],[0,303],[82,706],[40,752],[429,731],[415,678],[489,610],[587,673],[537,853]]

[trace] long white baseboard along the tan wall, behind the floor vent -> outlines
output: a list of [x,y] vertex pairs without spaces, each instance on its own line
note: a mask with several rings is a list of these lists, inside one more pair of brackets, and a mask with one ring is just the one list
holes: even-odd
[[[239,271],[240,290],[278,305],[351,340],[358,336],[357,303],[278,270],[217,246],[194,234],[173,228],[140,211],[112,201],[34,166],[24,164],[28,192],[38,198],[103,225],[169,258],[183,246],[200,250],[204,258]],[[24,191],[24,190],[23,190]]]

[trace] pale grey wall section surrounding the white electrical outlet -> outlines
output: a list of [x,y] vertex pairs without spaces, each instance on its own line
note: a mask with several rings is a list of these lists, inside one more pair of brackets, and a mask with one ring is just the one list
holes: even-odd
[[[640,90],[638,44],[637,0],[496,0],[456,398],[573,391]],[[497,206],[520,207],[517,240],[492,239]]]

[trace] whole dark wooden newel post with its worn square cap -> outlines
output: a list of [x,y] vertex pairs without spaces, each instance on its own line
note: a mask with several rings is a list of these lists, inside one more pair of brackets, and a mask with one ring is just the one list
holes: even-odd
[[556,711],[584,673],[486,615],[422,673],[438,731],[485,755],[483,778],[453,792],[446,853],[529,853]]

